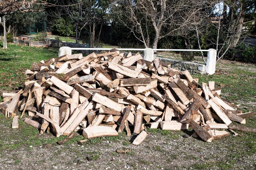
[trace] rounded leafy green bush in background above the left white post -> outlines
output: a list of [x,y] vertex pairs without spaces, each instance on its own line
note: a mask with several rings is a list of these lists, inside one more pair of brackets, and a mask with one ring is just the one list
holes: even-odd
[[59,18],[56,20],[56,24],[52,27],[52,32],[59,36],[74,36],[74,25],[71,21]]

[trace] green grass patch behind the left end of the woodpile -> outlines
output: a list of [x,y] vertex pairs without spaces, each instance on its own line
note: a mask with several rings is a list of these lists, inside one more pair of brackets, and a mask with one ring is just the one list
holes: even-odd
[[58,57],[56,48],[14,44],[8,44],[7,48],[0,50],[0,91],[23,87],[22,80],[25,78],[25,71],[31,67],[33,62]]

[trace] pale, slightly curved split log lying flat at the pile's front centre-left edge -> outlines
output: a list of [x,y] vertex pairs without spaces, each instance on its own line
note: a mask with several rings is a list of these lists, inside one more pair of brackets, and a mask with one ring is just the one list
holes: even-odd
[[92,126],[83,129],[83,136],[86,139],[101,137],[101,136],[118,136],[118,132],[110,126]]

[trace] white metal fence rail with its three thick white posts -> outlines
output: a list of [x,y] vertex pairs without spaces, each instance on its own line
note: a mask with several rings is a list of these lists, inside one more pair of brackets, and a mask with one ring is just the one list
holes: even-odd
[[[72,54],[72,50],[110,50],[112,48],[70,48],[70,47],[61,47],[59,49],[59,56],[65,54]],[[148,61],[154,60],[154,51],[202,51],[207,52],[207,64],[206,64],[206,73],[214,74],[216,69],[216,49],[135,49],[135,48],[116,48],[119,51],[144,51],[144,59]]]

